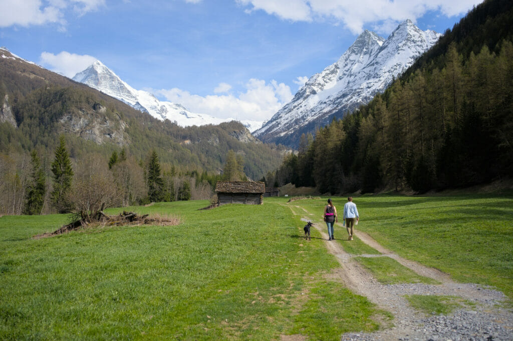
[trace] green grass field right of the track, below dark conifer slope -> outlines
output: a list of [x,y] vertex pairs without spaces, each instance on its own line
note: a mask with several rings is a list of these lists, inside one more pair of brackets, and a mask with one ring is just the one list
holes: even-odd
[[[460,282],[494,286],[513,298],[513,193],[364,195],[353,201],[360,213],[357,235],[358,230],[365,231],[403,257],[440,269]],[[339,216],[346,202],[346,198],[333,198]],[[326,198],[293,202],[318,213],[319,219],[325,203]],[[339,243],[347,252],[376,253],[353,244],[356,238],[343,240],[347,232],[341,223],[336,224],[335,235],[340,235]]]

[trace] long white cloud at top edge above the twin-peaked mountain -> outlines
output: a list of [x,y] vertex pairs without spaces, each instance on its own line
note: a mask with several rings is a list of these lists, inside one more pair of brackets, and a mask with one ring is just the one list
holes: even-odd
[[471,9],[482,0],[235,0],[249,11],[263,10],[271,15],[292,21],[330,19],[342,23],[353,33],[360,33],[366,23],[383,21],[382,29],[397,25],[405,19],[416,21],[427,11],[441,11],[446,16]]

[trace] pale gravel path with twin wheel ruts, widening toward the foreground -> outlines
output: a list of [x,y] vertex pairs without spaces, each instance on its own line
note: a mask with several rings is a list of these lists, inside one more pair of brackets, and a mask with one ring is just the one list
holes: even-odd
[[[299,206],[295,206],[300,208]],[[305,210],[305,213],[306,212]],[[309,214],[311,215],[311,214]],[[310,220],[312,218],[303,218]],[[330,253],[337,257],[341,268],[334,270],[330,277],[336,277],[353,292],[366,296],[380,308],[393,314],[394,327],[374,333],[347,333],[342,341],[478,341],[513,340],[513,312],[503,308],[507,297],[502,292],[484,288],[476,284],[456,283],[447,274],[417,262],[400,257],[385,249],[364,232],[355,235],[364,243],[381,252],[384,257],[396,259],[400,264],[416,273],[438,280],[440,285],[399,284],[383,285],[366,269],[345,252],[335,240],[328,241],[325,224],[317,222],[315,228],[325,238]],[[376,256],[376,255],[358,255]],[[411,308],[404,295],[448,295],[459,296],[473,303],[448,315],[426,316]]]

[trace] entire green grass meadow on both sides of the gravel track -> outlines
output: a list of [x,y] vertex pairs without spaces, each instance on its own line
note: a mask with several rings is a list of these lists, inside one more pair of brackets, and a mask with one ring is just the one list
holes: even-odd
[[[312,229],[312,240],[304,240],[300,219],[324,228],[326,198],[287,199],[202,211],[207,201],[111,209],[174,215],[181,224],[41,239],[32,236],[56,230],[69,217],[0,217],[0,339],[279,340],[301,334],[338,340],[390,320],[330,279],[339,264],[319,232]],[[333,201],[341,215],[346,200]],[[365,231],[404,257],[513,298],[513,195],[361,196],[354,202],[361,216],[357,235]],[[378,253],[357,238],[343,240],[341,224],[335,235],[352,254]],[[396,265],[385,270],[392,271]]]

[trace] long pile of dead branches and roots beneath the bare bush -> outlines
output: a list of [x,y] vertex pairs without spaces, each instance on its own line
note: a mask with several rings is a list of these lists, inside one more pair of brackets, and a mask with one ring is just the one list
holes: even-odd
[[78,218],[73,220],[72,223],[64,225],[60,229],[51,232],[35,236],[34,238],[50,237],[58,234],[67,233],[69,231],[78,230],[87,227],[104,227],[104,226],[133,226],[133,225],[157,225],[157,226],[172,226],[179,225],[181,220],[177,217],[166,217],[158,214],[137,214],[134,212],[126,212],[119,215],[107,215],[104,212],[97,212],[93,216],[89,216],[88,219],[83,219],[80,215],[76,215]]

